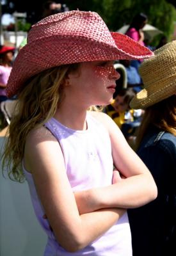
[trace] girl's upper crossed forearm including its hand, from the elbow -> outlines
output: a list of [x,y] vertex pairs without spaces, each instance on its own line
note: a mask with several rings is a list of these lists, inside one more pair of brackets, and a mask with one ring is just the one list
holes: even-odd
[[75,193],[79,213],[106,207],[140,207],[156,196],[156,185],[150,174],[135,175],[107,187]]

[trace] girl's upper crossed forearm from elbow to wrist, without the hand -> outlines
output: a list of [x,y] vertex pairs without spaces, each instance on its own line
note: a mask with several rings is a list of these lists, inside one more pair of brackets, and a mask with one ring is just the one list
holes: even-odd
[[157,188],[149,173],[122,179],[111,186],[95,189],[101,207],[135,208],[156,199]]

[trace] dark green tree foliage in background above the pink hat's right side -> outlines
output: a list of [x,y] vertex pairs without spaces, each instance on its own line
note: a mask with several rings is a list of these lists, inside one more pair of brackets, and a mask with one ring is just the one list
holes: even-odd
[[[176,19],[175,7],[166,0],[67,0],[70,10],[86,10],[98,12],[111,31],[130,24],[136,13],[143,12],[148,16],[148,24],[156,26],[164,35],[171,39],[173,22]],[[161,35],[154,38],[154,44],[159,42]]]

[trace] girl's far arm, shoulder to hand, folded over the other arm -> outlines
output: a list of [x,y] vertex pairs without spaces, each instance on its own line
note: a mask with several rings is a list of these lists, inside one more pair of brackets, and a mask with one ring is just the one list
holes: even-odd
[[129,147],[122,132],[108,115],[104,113],[93,113],[93,115],[108,129],[114,164],[126,179],[104,188],[76,193],[79,209],[81,211],[95,211],[104,207],[127,209],[140,207],[154,200],[157,196],[157,187],[147,166]]

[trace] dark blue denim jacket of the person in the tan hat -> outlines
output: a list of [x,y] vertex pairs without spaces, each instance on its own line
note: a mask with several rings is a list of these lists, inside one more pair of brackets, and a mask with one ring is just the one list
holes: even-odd
[[131,209],[133,256],[176,255],[176,137],[150,127],[137,152],[157,184],[150,204]]

